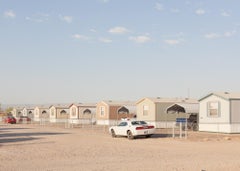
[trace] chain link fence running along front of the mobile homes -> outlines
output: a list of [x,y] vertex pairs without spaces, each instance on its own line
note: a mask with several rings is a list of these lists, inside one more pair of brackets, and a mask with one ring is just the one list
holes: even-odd
[[[0,118],[0,122],[4,124],[3,118]],[[102,130],[108,132],[111,126],[116,126],[121,122],[121,120],[106,120],[97,123],[95,118],[80,118],[80,119],[55,119],[50,118],[39,118],[37,121],[23,119],[22,122],[17,122],[17,124],[34,124],[42,127],[60,127],[65,129],[89,129],[89,130]],[[190,131],[198,131],[199,125],[193,122],[169,122],[169,121],[147,121],[147,123],[152,124],[156,128],[156,134],[161,137],[173,137],[173,138],[184,138],[188,136]],[[215,132],[220,132],[220,124],[216,124]]]

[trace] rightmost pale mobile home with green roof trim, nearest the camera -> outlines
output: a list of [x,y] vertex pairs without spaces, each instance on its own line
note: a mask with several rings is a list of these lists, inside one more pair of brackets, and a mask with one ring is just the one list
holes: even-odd
[[199,102],[199,131],[240,133],[240,93],[211,93]]

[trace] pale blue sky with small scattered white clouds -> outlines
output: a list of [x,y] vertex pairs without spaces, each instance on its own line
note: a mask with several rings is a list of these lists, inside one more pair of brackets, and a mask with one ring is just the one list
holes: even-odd
[[240,92],[239,0],[0,0],[0,103]]

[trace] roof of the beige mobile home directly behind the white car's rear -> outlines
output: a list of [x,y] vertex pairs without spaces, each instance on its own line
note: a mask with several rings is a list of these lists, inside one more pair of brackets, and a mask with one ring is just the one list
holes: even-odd
[[196,99],[189,98],[164,98],[164,97],[146,97],[137,101],[137,104],[142,102],[143,100],[148,99],[153,103],[198,103]]

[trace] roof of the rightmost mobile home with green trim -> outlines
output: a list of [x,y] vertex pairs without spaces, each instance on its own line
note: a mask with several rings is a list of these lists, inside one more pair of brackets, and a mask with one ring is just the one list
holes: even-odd
[[199,101],[202,101],[206,98],[208,98],[209,96],[215,95],[217,97],[220,97],[222,99],[225,100],[240,100],[240,93],[233,93],[233,92],[213,92],[210,93],[204,97],[202,97],[201,99],[199,99]]

